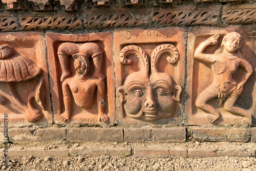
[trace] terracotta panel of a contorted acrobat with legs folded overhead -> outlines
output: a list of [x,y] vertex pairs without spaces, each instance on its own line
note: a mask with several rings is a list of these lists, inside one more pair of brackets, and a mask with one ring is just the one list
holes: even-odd
[[47,33],[56,123],[114,123],[111,33]]

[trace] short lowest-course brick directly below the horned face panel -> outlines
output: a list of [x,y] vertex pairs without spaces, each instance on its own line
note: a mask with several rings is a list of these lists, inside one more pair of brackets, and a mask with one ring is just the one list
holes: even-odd
[[134,147],[134,157],[138,158],[166,158],[169,155],[168,147],[163,146],[147,146]]

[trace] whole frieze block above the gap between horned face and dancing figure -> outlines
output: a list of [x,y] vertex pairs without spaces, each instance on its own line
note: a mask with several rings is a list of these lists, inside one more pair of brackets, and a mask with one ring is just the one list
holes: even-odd
[[155,9],[153,22],[161,25],[216,25],[220,16],[220,6],[197,8],[179,6],[169,9]]

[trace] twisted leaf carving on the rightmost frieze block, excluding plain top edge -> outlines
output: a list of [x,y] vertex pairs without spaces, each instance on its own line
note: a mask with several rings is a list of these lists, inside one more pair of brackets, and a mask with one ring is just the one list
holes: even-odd
[[222,18],[229,24],[256,23],[256,9],[224,9]]

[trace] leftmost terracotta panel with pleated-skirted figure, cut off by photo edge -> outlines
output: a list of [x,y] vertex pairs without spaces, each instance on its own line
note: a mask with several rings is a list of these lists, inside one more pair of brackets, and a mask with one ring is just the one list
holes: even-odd
[[52,122],[44,39],[40,33],[0,34],[0,121]]

